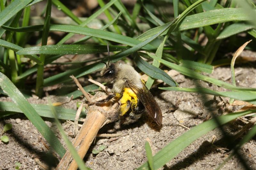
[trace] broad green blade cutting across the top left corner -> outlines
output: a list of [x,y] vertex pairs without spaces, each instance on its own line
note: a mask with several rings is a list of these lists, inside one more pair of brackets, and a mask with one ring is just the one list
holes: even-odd
[[0,27],[4,25],[9,19],[11,19],[14,15],[16,15],[20,10],[26,7],[32,0],[12,1],[10,5],[4,8],[3,11],[0,12]]

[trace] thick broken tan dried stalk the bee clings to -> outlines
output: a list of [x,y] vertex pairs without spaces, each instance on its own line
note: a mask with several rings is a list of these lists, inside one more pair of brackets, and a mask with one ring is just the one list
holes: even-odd
[[[79,87],[81,92],[84,91],[83,87],[80,85],[78,80],[72,76],[73,80],[76,82],[76,85]],[[87,101],[94,102],[98,100],[102,100],[107,97],[107,94],[104,92],[97,92],[92,98],[87,94],[87,92],[83,92]],[[86,115],[85,121],[79,130],[76,138],[73,141],[73,145],[77,150],[77,153],[81,158],[84,158],[86,152],[91,146],[93,139],[96,137],[98,131],[102,126],[107,124],[108,122],[112,122],[113,119],[118,115],[116,112],[116,107],[118,103],[114,103],[113,101],[103,103],[101,105],[92,105],[89,106],[88,114]],[[71,163],[70,163],[71,162]],[[71,154],[69,151],[65,153],[63,158],[60,160],[59,165],[56,167],[56,170],[62,169],[77,169],[78,166],[75,160],[72,160]]]

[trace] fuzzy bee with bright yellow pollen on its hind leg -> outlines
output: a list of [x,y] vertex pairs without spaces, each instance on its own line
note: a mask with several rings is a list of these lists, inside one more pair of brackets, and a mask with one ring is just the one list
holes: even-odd
[[146,111],[149,116],[160,126],[162,112],[154,96],[140,79],[140,74],[128,64],[105,63],[106,67],[100,72],[101,77],[107,82],[108,92],[112,92],[105,100],[118,100],[118,112],[123,124],[136,122]]

